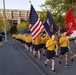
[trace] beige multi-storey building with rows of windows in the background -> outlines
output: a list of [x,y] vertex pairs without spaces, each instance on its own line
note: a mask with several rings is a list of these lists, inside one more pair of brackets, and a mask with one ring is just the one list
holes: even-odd
[[[3,9],[0,9],[0,15],[3,17]],[[10,22],[11,25],[18,25],[22,21],[29,20],[29,11],[28,10],[5,10],[6,20]],[[38,16],[40,17],[40,11],[37,11]]]

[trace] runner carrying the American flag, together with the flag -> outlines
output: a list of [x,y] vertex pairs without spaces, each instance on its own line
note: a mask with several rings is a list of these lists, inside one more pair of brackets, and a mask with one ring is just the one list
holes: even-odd
[[41,42],[40,34],[44,30],[44,26],[40,21],[40,19],[38,18],[38,15],[32,4],[31,4],[30,15],[29,15],[29,23],[30,23],[29,28],[30,28],[30,31],[32,32],[31,33],[32,41],[35,49],[34,57],[36,57],[36,52],[38,51],[38,58],[40,60],[40,42]]

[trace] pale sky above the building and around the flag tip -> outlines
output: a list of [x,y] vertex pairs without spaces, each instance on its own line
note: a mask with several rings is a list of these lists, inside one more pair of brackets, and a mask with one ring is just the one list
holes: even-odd
[[[35,10],[41,11],[39,5],[46,0],[30,0]],[[0,9],[3,9],[3,0],[0,0]],[[29,0],[5,0],[5,9],[30,10]]]

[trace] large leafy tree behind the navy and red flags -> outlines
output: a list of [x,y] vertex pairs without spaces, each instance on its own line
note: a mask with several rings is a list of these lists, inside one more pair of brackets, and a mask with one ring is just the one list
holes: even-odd
[[[60,24],[63,28],[65,14],[70,7],[72,7],[73,10],[75,9],[75,2],[76,0],[46,0],[45,3],[41,5],[41,8],[43,11],[49,10],[56,24]],[[43,14],[42,17],[45,19]]]

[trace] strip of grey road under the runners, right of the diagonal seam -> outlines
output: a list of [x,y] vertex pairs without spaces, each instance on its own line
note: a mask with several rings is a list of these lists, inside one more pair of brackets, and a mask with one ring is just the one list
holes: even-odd
[[[38,66],[46,73],[46,75],[54,75],[54,73],[51,72],[51,62],[48,63],[48,66],[44,66],[45,62],[45,56],[41,55],[42,61],[39,61],[37,58],[34,58],[31,53],[26,52],[26,50],[22,47],[20,47],[25,53],[28,54],[28,56],[36,63]],[[71,49],[73,53],[75,53],[74,50],[74,41],[71,41]],[[74,62],[70,61],[70,57],[72,55],[69,53],[69,68],[65,68],[64,66],[64,57],[62,58],[62,64],[58,63],[58,58],[56,58],[56,71],[58,72],[56,75],[76,75],[76,59],[74,59]]]

